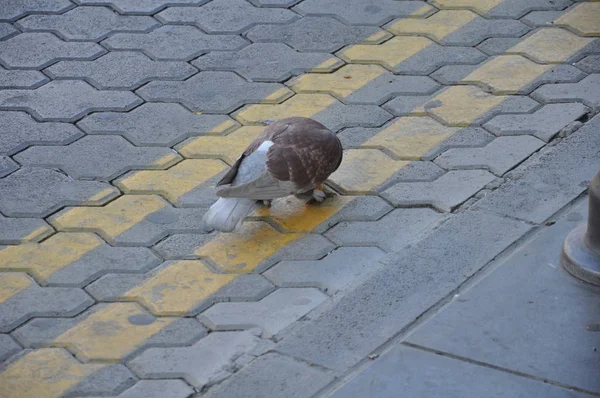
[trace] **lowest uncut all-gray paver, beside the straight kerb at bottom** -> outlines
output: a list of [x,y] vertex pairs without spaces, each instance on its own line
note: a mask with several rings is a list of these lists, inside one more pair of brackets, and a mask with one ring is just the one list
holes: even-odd
[[252,331],[214,332],[191,347],[149,348],[128,365],[145,379],[181,377],[202,389],[230,376],[241,355],[260,355],[272,344]]

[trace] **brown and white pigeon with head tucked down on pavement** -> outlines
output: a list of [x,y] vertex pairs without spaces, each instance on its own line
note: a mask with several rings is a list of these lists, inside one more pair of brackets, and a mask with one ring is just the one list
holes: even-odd
[[259,201],[295,195],[325,200],[320,185],[342,162],[339,138],[321,123],[290,117],[268,125],[217,183],[219,199],[204,215],[205,228],[231,232]]

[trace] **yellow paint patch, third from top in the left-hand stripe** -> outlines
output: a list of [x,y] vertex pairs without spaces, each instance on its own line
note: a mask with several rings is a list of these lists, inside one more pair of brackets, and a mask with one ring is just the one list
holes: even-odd
[[357,44],[340,52],[340,57],[349,63],[379,64],[394,69],[433,42],[426,37],[394,37],[383,44],[372,46]]

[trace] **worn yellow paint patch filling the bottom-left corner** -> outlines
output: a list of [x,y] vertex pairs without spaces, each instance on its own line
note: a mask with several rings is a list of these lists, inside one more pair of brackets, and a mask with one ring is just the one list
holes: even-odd
[[105,367],[83,364],[62,348],[28,352],[0,374],[0,397],[58,398]]

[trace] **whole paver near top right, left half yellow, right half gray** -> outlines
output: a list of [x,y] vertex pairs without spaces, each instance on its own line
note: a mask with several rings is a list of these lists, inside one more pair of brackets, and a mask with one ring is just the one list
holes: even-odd
[[468,10],[442,10],[426,19],[391,22],[386,29],[398,35],[422,34],[443,45],[475,46],[490,37],[520,37],[530,28],[515,20],[485,19]]

